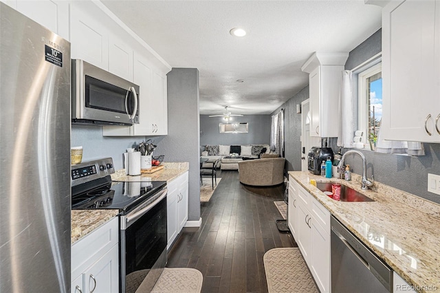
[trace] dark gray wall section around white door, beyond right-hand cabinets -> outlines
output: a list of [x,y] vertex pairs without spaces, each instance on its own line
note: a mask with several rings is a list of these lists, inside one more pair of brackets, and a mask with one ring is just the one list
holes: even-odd
[[[284,109],[284,149],[287,171],[301,171],[301,114],[296,113],[296,105],[309,98],[309,86],[301,89],[273,113]],[[307,155],[307,151],[306,151]]]

